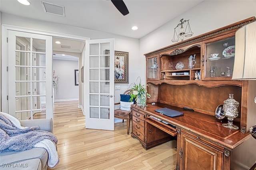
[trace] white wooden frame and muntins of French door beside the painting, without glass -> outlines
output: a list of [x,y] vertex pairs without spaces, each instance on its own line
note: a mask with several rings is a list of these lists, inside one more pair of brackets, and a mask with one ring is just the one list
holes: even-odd
[[[101,44],[109,44],[109,66],[106,67],[106,65],[102,66],[100,63],[102,62],[100,59],[101,57],[106,57],[106,54],[102,53],[102,47]],[[91,47],[90,45],[98,45],[97,50],[98,53],[90,53],[91,51]],[[100,129],[100,130],[114,130],[114,38],[110,38],[110,39],[99,39],[99,40],[88,40],[86,41],[86,58],[84,60],[84,65],[85,65],[85,69],[84,69],[84,89],[85,89],[85,100],[84,100],[84,107],[85,107],[85,119],[86,119],[86,128],[92,128],[92,129]],[[90,57],[98,57],[98,63],[96,64],[96,66],[91,66],[93,65],[91,63],[91,58]],[[104,59],[103,59],[104,60]],[[113,61],[113,62],[111,62]],[[106,79],[101,79],[100,78],[100,74],[104,73],[101,72],[100,69],[109,69],[109,80]],[[90,74],[92,70],[98,70],[98,78],[97,79],[91,79]],[[106,73],[104,73],[106,74]],[[92,85],[90,84],[91,82],[96,82],[99,83],[98,84],[98,91],[95,92],[91,92],[90,89],[92,87]],[[109,82],[109,89],[108,91],[102,91],[101,85],[100,83],[106,83]],[[91,102],[91,98],[90,95],[97,95],[98,96],[98,103],[96,100],[96,104],[90,104]],[[104,96],[107,95],[106,97],[108,97],[109,99],[109,105],[102,105],[101,101],[100,101],[100,96]],[[99,109],[98,110],[98,115],[91,115],[93,114],[91,112],[90,109]],[[108,109],[108,118],[102,116],[101,117],[101,109],[102,109],[102,113],[106,114],[106,112],[104,113],[104,109]],[[105,110],[106,111],[106,110]]]

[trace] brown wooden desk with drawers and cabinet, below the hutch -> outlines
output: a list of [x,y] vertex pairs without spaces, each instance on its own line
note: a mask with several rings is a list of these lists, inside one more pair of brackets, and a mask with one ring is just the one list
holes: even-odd
[[[160,115],[155,109],[162,107],[182,111],[184,115]],[[232,150],[251,137],[250,133],[223,127],[213,116],[161,103],[145,108],[132,105],[132,113],[132,137],[138,138],[145,149],[176,138],[177,170],[229,170]]]

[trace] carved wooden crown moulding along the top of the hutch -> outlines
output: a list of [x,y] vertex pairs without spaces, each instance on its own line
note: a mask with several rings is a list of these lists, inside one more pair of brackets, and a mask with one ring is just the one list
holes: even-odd
[[230,26],[228,28],[223,28],[222,30],[216,30],[215,32],[209,32],[209,34],[206,33],[206,35],[204,35],[204,36],[197,36],[194,39],[190,39],[190,40],[178,43],[176,45],[171,45],[171,46],[168,46],[166,48],[160,49],[158,51],[153,51],[152,53],[147,53],[147,54],[145,54],[145,56],[148,57],[150,55],[162,53],[164,51],[175,49],[175,48],[178,48],[178,47],[181,47],[181,46],[189,45],[189,44],[196,43],[196,42],[201,42],[201,41],[209,39],[213,36],[218,36],[219,34],[224,34],[225,32],[230,32],[230,31],[237,30],[237,29],[241,28],[242,26],[245,26],[247,24],[250,24],[251,22],[254,22],[254,20],[255,20],[255,18],[253,18],[253,20],[246,21],[246,22],[243,22],[243,23],[240,23],[240,24],[236,24],[236,25]]

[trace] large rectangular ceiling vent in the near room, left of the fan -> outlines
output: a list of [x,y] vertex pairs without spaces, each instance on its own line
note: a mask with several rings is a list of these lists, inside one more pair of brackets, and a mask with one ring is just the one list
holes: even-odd
[[65,17],[64,6],[52,4],[50,2],[45,2],[45,1],[41,1],[41,3],[45,13]]

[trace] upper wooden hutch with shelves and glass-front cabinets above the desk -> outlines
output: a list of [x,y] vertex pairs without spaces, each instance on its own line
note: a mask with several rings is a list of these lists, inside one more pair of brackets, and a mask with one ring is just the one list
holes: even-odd
[[[255,17],[182,42],[146,53],[146,63],[152,58],[158,61],[159,80],[147,77],[148,93],[152,96],[148,103],[160,102],[177,107],[189,107],[203,114],[215,115],[216,107],[234,94],[240,103],[239,115],[241,132],[248,132],[254,125],[248,113],[250,86],[254,81],[232,81],[235,50],[235,32],[252,22]],[[216,57],[210,55],[218,53]],[[195,57],[194,67],[188,68],[188,59]],[[184,64],[176,69],[177,63]],[[150,68],[149,68],[150,67]],[[230,69],[228,73],[228,68]],[[147,70],[151,65],[147,64]],[[148,71],[147,71],[148,72]],[[197,75],[199,79],[196,79]],[[254,98],[254,97],[253,97]]]

